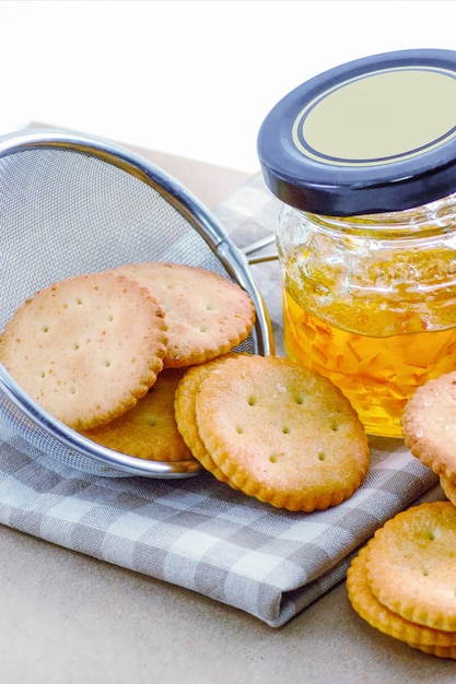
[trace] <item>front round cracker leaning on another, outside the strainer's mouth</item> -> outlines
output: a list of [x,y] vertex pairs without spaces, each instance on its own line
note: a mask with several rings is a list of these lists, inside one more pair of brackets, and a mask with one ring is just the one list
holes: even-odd
[[369,462],[364,428],[332,382],[288,358],[226,358],[196,398],[199,436],[229,483],[312,511],[340,504]]

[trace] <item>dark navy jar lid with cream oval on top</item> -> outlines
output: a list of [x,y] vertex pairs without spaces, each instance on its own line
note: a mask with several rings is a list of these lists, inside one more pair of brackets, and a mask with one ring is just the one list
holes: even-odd
[[456,51],[401,50],[330,69],[268,114],[267,186],[287,204],[349,216],[456,190]]

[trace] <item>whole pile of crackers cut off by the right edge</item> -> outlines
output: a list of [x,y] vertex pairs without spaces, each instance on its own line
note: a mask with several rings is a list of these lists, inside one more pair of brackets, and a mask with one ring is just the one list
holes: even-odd
[[412,507],[352,562],[347,587],[373,627],[440,658],[456,658],[456,372],[429,380],[402,414],[407,447],[448,500]]

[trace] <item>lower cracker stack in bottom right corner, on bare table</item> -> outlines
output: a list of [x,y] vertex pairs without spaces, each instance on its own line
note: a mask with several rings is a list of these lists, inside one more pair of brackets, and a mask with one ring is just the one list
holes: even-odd
[[353,609],[412,648],[456,658],[456,507],[421,504],[377,530],[347,575]]

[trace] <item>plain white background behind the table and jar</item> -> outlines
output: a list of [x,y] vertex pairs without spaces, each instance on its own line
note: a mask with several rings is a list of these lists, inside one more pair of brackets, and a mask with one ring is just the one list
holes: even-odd
[[456,49],[452,0],[0,0],[0,133],[40,121],[249,173],[264,117],[309,76]]

